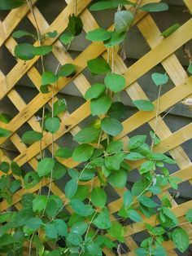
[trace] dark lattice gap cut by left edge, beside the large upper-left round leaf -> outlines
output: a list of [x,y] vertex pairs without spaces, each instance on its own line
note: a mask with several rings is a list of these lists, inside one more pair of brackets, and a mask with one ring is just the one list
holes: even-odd
[[1,71],[4,75],[7,75],[16,64],[15,57],[11,55],[11,52],[7,50],[5,45],[0,47],[0,56],[1,60],[4,60],[1,62]]

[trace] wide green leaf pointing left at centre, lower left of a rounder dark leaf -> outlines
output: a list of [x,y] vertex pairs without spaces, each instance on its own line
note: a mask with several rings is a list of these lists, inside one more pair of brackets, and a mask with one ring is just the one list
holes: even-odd
[[94,127],[86,127],[80,130],[74,137],[73,140],[79,143],[91,143],[98,138],[100,130]]

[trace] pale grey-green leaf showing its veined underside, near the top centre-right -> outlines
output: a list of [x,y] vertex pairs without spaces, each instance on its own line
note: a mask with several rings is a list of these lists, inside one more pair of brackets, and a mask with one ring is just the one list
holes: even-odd
[[115,14],[116,32],[126,32],[133,23],[133,20],[134,16],[131,11],[117,11]]

